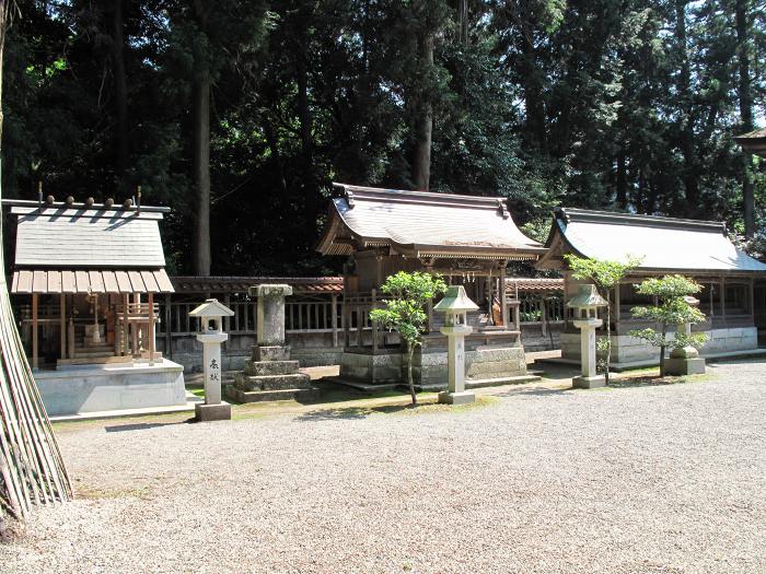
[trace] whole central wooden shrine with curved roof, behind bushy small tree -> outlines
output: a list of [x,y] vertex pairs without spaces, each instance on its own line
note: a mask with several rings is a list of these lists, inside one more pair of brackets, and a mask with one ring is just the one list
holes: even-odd
[[[545,253],[526,237],[508,211],[507,199],[404,191],[336,184],[317,250],[345,256],[343,325],[345,352],[340,376],[364,383],[401,380],[401,344],[369,319],[381,305],[380,286],[398,271],[430,271],[450,284],[463,284],[479,305],[469,314],[474,333],[466,339],[468,379],[526,374],[520,341],[518,301],[507,297],[509,261],[533,261]],[[428,335],[416,365],[421,386],[445,379],[442,317],[428,309]],[[369,328],[369,329],[368,329]]]

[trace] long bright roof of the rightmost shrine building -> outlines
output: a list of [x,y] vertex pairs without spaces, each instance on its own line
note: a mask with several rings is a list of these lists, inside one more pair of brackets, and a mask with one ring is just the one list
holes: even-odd
[[557,208],[539,269],[561,267],[561,256],[625,260],[641,257],[648,271],[764,272],[766,265],[738,249],[715,221],[683,220]]

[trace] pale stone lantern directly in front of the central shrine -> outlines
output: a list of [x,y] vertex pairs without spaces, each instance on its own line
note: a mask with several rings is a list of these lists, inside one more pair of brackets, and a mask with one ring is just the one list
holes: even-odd
[[453,285],[446,290],[433,311],[444,313],[444,326],[440,329],[446,335],[446,390],[439,394],[439,402],[465,405],[473,402],[475,396],[465,390],[465,336],[473,331],[468,325],[467,314],[478,306],[465,294],[463,285]]

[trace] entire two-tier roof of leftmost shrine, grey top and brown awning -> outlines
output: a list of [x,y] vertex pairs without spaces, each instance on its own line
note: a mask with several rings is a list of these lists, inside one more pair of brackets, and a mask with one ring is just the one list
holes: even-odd
[[18,218],[14,293],[166,293],[166,208],[3,200]]

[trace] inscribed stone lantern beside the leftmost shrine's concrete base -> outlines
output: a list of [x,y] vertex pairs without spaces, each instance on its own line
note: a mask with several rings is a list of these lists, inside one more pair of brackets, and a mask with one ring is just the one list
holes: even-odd
[[200,320],[197,340],[202,343],[202,366],[205,372],[205,403],[195,405],[198,421],[228,421],[231,419],[231,405],[221,401],[221,343],[229,339],[223,332],[223,317],[234,312],[216,298],[209,298],[193,312],[190,317]]

